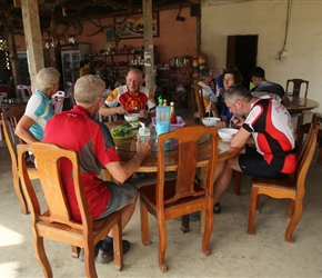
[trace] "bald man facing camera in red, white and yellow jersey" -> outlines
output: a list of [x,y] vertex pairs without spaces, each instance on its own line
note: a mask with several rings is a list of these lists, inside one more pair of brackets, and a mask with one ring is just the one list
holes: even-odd
[[142,86],[143,81],[141,70],[130,69],[127,85],[118,87],[108,96],[99,113],[102,116],[140,113],[139,118],[148,119],[149,113],[154,112],[155,101],[149,89]]

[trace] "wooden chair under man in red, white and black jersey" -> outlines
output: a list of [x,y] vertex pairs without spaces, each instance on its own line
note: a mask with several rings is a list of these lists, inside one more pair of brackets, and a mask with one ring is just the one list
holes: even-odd
[[305,195],[305,178],[311,165],[315,147],[316,135],[320,127],[320,117],[315,115],[311,125],[308,139],[303,148],[301,149],[298,158],[298,168],[294,177],[288,177],[285,179],[264,179],[253,178],[251,190],[251,202],[249,212],[249,227],[248,232],[254,234],[254,220],[255,210],[259,207],[259,196],[266,195],[275,199],[291,199],[286,216],[291,218],[290,224],[285,232],[285,241],[293,242],[292,234],[298,222],[301,219],[303,211],[303,199]]

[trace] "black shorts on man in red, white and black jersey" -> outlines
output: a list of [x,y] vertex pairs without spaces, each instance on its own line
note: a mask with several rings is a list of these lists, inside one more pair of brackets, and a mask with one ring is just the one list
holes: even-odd
[[281,173],[278,169],[270,166],[261,153],[249,146],[245,146],[245,153],[240,155],[238,162],[245,175],[271,179],[288,177],[288,175]]

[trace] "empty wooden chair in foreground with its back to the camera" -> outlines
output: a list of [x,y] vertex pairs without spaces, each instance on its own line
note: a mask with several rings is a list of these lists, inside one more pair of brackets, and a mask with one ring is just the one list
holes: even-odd
[[[198,141],[201,136],[211,135],[212,146],[209,151],[205,188],[194,182]],[[177,179],[164,181],[164,145],[168,140],[178,140]],[[173,140],[173,139],[172,139]],[[143,245],[150,245],[148,211],[157,218],[159,228],[159,266],[162,272],[168,267],[164,262],[167,249],[165,221],[195,211],[205,210],[205,228],[202,238],[202,251],[210,254],[209,240],[213,228],[213,179],[218,157],[217,128],[203,126],[183,127],[158,137],[157,185],[144,186],[140,191],[141,237]]]

